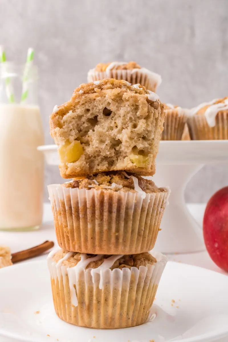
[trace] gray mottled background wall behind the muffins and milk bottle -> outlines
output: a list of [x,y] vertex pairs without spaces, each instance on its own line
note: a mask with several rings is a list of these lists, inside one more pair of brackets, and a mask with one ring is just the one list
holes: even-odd
[[[17,62],[35,49],[46,144],[54,105],[99,62],[135,60],[161,74],[167,103],[191,107],[228,95],[227,0],[0,0],[0,44]],[[46,167],[45,185],[59,181]],[[205,202],[227,183],[227,165],[206,166],[186,199]]]

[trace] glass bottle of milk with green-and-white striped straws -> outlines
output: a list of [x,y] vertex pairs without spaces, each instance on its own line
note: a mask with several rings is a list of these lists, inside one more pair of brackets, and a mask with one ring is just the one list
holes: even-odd
[[44,135],[37,104],[37,67],[0,64],[0,230],[42,222]]

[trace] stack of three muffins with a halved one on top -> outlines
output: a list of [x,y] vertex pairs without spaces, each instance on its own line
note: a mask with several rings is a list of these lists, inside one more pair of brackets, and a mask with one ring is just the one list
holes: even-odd
[[155,173],[163,121],[155,93],[113,78],[81,84],[54,107],[59,169],[72,180],[48,186],[61,247],[48,265],[56,314],[68,323],[112,329],[148,319],[167,262],[149,251],[169,191],[142,176]]

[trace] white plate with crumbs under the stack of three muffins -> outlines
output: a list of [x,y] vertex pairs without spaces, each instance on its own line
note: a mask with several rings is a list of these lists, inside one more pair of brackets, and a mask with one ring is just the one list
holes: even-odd
[[134,328],[96,330],[60,320],[46,261],[27,262],[0,270],[0,334],[29,342],[209,342],[228,334],[227,288],[225,275],[169,262],[150,321]]

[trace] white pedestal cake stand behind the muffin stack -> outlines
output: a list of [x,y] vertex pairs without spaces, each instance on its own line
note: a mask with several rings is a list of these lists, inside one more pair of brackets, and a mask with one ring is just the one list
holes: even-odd
[[[49,165],[58,165],[56,145],[39,146]],[[155,250],[162,253],[202,251],[202,229],[189,213],[184,190],[191,177],[203,165],[228,161],[228,140],[161,141],[156,175],[148,177],[158,186],[169,186],[166,206]]]

